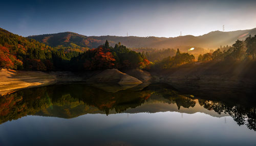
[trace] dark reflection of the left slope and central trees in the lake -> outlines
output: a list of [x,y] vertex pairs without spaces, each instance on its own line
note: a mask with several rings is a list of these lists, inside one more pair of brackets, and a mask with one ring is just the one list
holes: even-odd
[[26,115],[75,117],[110,110],[125,111],[141,105],[149,91],[109,93],[84,85],[58,85],[20,90],[0,96],[0,123]]

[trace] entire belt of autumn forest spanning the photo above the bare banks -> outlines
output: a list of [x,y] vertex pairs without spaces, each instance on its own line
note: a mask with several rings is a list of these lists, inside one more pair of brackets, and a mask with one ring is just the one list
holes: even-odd
[[[232,46],[221,46],[210,53],[197,55],[197,61],[254,60],[255,54],[256,35],[253,37],[250,35],[245,40],[237,40]],[[41,71],[106,68],[165,69],[193,62],[196,62],[193,54],[181,53],[179,49],[177,51],[170,48],[131,50],[120,42],[113,47],[108,40],[92,49],[72,44],[65,45],[65,43],[49,46],[0,28],[0,68]]]

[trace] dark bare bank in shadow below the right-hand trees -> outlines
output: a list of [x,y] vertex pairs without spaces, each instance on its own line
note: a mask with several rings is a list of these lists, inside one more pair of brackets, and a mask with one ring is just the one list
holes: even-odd
[[211,61],[151,70],[153,82],[167,83],[197,97],[243,99],[255,93],[254,61]]

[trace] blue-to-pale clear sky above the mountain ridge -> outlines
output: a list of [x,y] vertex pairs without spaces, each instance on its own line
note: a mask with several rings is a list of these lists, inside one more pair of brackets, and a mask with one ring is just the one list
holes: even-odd
[[6,1],[0,27],[29,36],[75,32],[87,36],[199,36],[256,28],[256,1]]

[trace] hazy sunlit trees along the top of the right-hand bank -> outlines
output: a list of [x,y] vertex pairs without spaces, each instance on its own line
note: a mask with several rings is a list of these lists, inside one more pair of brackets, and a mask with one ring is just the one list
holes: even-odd
[[[198,62],[208,61],[243,61],[254,60],[256,54],[256,35],[249,36],[245,40],[237,40],[232,46],[220,47],[212,53],[205,53],[198,56]],[[183,64],[196,62],[194,55],[180,53],[179,49],[173,57],[167,57],[161,61],[155,61],[150,69],[166,69],[177,67]]]

